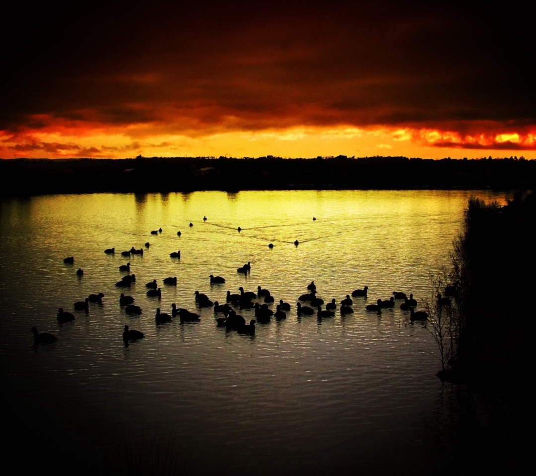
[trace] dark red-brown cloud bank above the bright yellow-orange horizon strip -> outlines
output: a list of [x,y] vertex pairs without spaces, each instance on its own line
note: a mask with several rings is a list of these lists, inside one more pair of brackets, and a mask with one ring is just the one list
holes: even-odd
[[[187,2],[19,9],[0,129],[534,125],[530,16],[510,3]],[[25,14],[23,14],[25,13]]]

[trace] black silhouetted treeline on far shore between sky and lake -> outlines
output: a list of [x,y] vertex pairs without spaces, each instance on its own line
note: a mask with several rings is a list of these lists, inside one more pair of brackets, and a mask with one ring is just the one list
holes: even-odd
[[532,189],[536,161],[408,157],[0,160],[5,196],[88,192],[285,189]]

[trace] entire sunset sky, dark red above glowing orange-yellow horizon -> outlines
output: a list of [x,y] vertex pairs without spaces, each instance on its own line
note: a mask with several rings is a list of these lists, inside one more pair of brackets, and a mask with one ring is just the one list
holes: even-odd
[[3,10],[0,157],[536,157],[517,2]]

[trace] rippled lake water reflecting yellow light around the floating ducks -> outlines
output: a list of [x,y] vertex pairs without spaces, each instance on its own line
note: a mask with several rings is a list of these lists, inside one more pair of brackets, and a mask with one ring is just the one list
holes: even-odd
[[[79,473],[114,472],[125,448],[140,451],[151,440],[159,447],[172,442],[185,474],[449,472],[437,454],[461,461],[456,439],[445,436],[459,429],[458,410],[467,405],[461,390],[445,389],[435,377],[437,351],[426,329],[407,324],[398,306],[381,316],[364,307],[395,290],[430,298],[429,275],[448,264],[471,194],[196,192],[3,201],[0,357],[14,441],[23,438],[35,455],[54,458],[58,472],[75,464]],[[501,201],[505,194],[478,197]],[[158,236],[150,234],[160,227]],[[151,247],[143,256],[119,253],[146,241]],[[109,247],[115,255],[103,253]],[[170,258],[177,250],[181,259]],[[71,255],[75,264],[64,265]],[[237,274],[248,261],[251,273]],[[125,291],[143,308],[137,317],[125,315],[114,285],[126,262],[137,276]],[[227,282],[211,286],[210,274]],[[177,286],[162,285],[167,276],[176,276]],[[162,286],[160,300],[145,295],[153,279]],[[346,318],[297,319],[296,299],[313,279],[326,302],[364,285],[369,299],[355,298],[355,313]],[[212,309],[196,311],[198,323],[155,325],[157,307],[195,311],[195,290],[221,303],[227,290],[258,285],[293,308],[284,321],[257,324],[255,337],[218,328]],[[98,292],[105,293],[102,305],[73,311],[74,301]],[[58,307],[76,320],[58,324]],[[125,324],[146,337],[124,346]],[[34,347],[32,326],[58,341]],[[482,435],[486,418],[475,418],[463,437],[480,432],[482,445],[493,445],[493,431]],[[459,464],[463,469],[465,459]]]

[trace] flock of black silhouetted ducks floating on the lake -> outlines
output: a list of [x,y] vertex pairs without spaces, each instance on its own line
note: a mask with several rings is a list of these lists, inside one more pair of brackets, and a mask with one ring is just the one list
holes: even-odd
[[[203,218],[206,221],[206,217]],[[193,226],[190,223],[190,226]],[[239,230],[240,231],[240,230]],[[162,233],[162,229],[151,231],[152,235],[158,235]],[[181,232],[177,232],[178,236],[181,236]],[[294,243],[297,246],[297,240]],[[271,244],[270,244],[271,245]],[[270,246],[269,245],[269,246]],[[150,243],[145,243],[145,248],[150,247]],[[273,245],[272,245],[273,246]],[[115,248],[107,248],[105,250],[107,254],[115,254]],[[140,248],[137,250],[135,247],[132,247],[129,251],[123,251],[122,256],[130,257],[131,255],[143,255],[144,250]],[[176,251],[169,254],[171,258],[181,258],[181,252]],[[75,258],[69,256],[63,260],[66,264],[74,264]],[[130,274],[130,262],[126,265],[121,265],[118,267],[120,272],[126,272],[127,275],[123,276],[120,281],[116,282],[115,285],[118,288],[129,288],[132,283],[136,282],[136,275]],[[247,275],[251,271],[251,262],[244,264],[243,266],[237,268],[237,273]],[[84,270],[78,268],[76,274],[81,277],[84,275]],[[219,285],[226,282],[225,278],[221,276],[210,275],[210,284]],[[166,285],[177,285],[177,278],[175,277],[166,277],[163,279],[163,283]],[[158,286],[157,279],[153,279],[145,284],[146,296],[150,298],[160,299],[162,296],[162,290]],[[354,312],[352,306],[354,304],[352,298],[362,298],[364,300],[368,297],[368,286],[364,286],[363,289],[355,289],[351,294],[346,294],[346,297],[337,303],[336,299],[331,299],[330,302],[324,305],[324,300],[317,296],[316,285],[314,281],[311,281],[307,285],[307,292],[301,294],[296,301],[297,309],[297,318],[300,319],[302,316],[313,316],[316,315],[317,319],[328,319],[335,316],[336,311],[338,310],[341,316],[346,316]],[[286,319],[286,313],[291,311],[291,304],[285,303],[282,299],[279,299],[279,304],[276,305],[276,310],[273,311],[270,306],[275,302],[274,297],[271,295],[270,291],[263,289],[261,286],[257,286],[257,292],[254,291],[245,291],[242,286],[238,289],[240,293],[232,294],[230,291],[227,291],[226,302],[220,304],[218,301],[212,301],[209,296],[206,294],[195,291],[195,303],[198,308],[213,308],[215,321],[218,326],[225,327],[228,331],[236,331],[239,334],[255,334],[255,324],[257,322],[267,323],[271,319],[282,320]],[[453,296],[456,293],[456,286],[447,286],[445,288],[446,296],[437,294],[437,305],[438,306],[449,306],[451,304],[449,296]],[[85,311],[86,313],[90,310],[90,303],[102,304],[102,299],[105,297],[105,294],[100,292],[98,294],[90,294],[83,301],[76,301],[73,304],[73,308],[76,311]],[[417,301],[413,298],[413,294],[410,293],[409,297],[406,293],[401,291],[393,291],[392,296],[388,299],[377,299],[375,304],[368,304],[365,306],[365,309],[369,312],[375,312],[378,314],[382,313],[383,309],[393,308],[397,305],[396,301],[403,301],[399,304],[400,309],[403,311],[410,312],[410,321],[426,321],[428,319],[428,313],[425,311],[415,311],[415,307],[418,306]],[[140,315],[143,310],[140,306],[137,306],[135,303],[135,298],[132,296],[125,295],[121,293],[119,304],[124,308],[125,314],[129,315]],[[199,314],[191,312],[186,308],[179,308],[175,303],[171,305],[172,311],[171,314],[161,312],[160,308],[156,309],[155,313],[155,322],[157,324],[170,322],[175,318],[178,318],[180,322],[198,322],[200,321]],[[255,313],[255,319],[251,319],[249,324],[246,322],[244,317],[237,313],[238,311],[252,309]],[[69,322],[75,320],[75,315],[68,311],[64,311],[63,308],[58,309],[57,320],[60,323]],[[49,333],[39,333],[35,327],[31,329],[34,335],[34,342],[36,344],[41,343],[51,343],[57,340],[57,337]],[[144,334],[138,330],[130,329],[128,325],[124,326],[123,329],[123,341],[126,345],[128,342],[137,341],[142,339]]]

